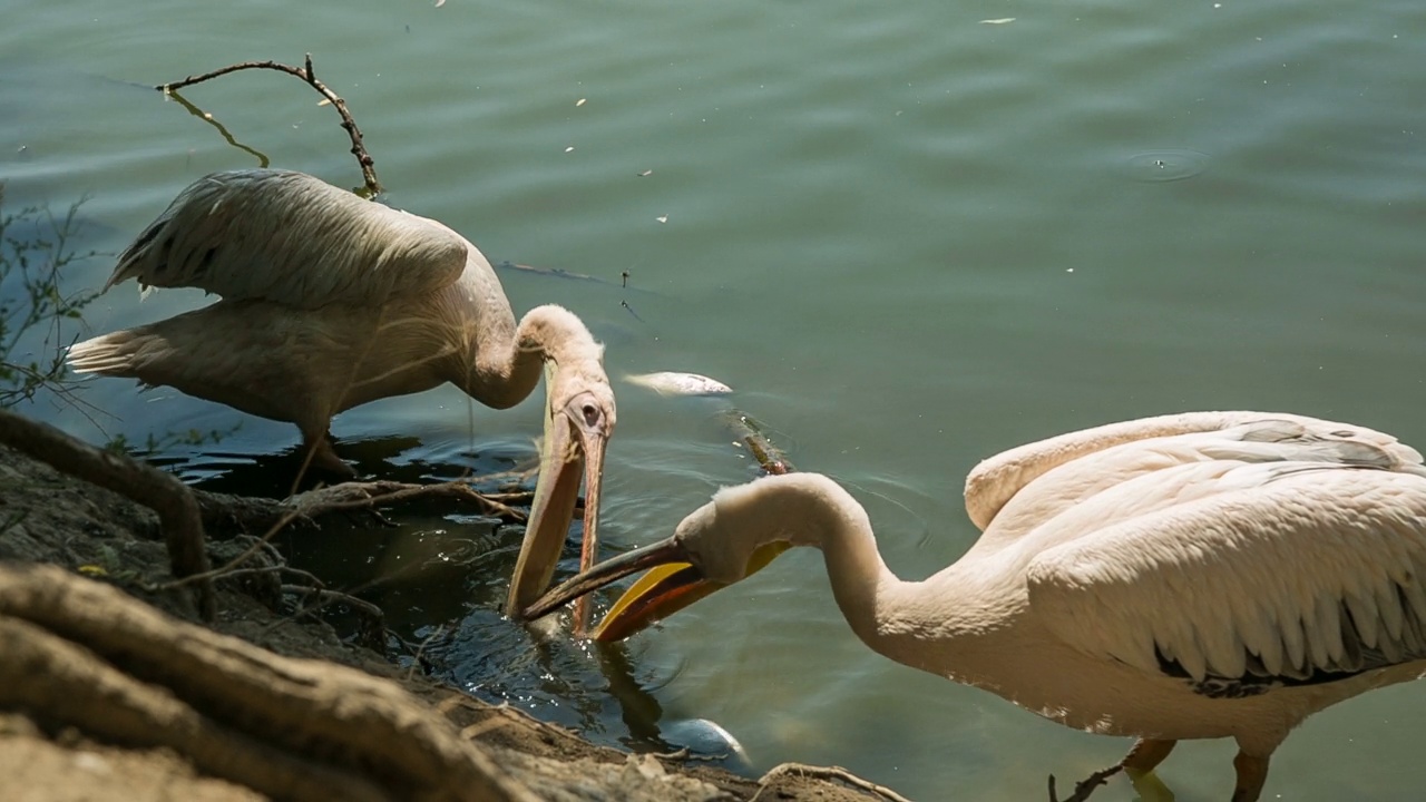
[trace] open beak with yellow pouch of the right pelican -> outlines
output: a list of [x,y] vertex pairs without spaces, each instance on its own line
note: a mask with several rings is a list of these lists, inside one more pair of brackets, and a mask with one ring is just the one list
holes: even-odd
[[[787,542],[759,547],[749,561],[746,575],[760,571],[789,548],[791,544]],[[729,585],[703,577],[703,572],[689,562],[684,545],[677,537],[672,537],[606,559],[592,569],[569,578],[526,606],[523,616],[533,619],[549,615],[569,601],[583,601],[588,594],[643,569],[649,569],[649,572],[640,577],[609,608],[609,614],[590,635],[592,639],[622,641]]]

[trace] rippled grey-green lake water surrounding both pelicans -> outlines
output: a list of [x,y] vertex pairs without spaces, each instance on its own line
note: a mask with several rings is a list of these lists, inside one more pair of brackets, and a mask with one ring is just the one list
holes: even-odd
[[[87,196],[80,244],[118,251],[198,176],[257,164],[145,87],[311,51],[388,203],[492,261],[602,280],[502,274],[516,310],[580,314],[616,377],[733,385],[729,402],[800,468],[853,488],[906,577],[974,541],[960,491],[978,460],[1061,431],[1262,408],[1426,444],[1416,0],[7,7],[9,207]],[[277,167],[361,183],[337,116],[291,77],[184,96]],[[70,285],[110,268],[76,265]],[[107,331],[201,303],[140,304],[125,285],[86,321]],[[610,549],[666,535],[752,475],[717,402],[616,392]],[[241,422],[163,457],[252,492],[289,478],[292,427],[127,381],[83,397],[104,431],[50,402],[30,411],[94,441]],[[472,410],[446,388],[348,412],[335,434],[382,475],[503,469],[533,454],[539,408]],[[1078,778],[1128,746],[868,652],[811,552],[625,648],[536,644],[499,616],[515,544],[476,517],[419,514],[288,542],[349,585],[386,577],[371,598],[408,639],[442,628],[431,656],[452,681],[606,742],[652,748],[707,718],[754,769],[837,763],[917,799],[987,801],[1044,798],[1047,773]],[[471,549],[486,557],[448,559]],[[1420,686],[1323,712],[1279,749],[1265,799],[1417,798],[1423,722]],[[1232,752],[1186,743],[1162,775],[1181,801],[1222,799]],[[1131,798],[1122,781],[1095,795]]]

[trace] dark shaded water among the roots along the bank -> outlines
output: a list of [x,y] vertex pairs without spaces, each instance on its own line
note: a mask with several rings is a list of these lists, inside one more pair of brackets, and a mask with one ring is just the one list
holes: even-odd
[[[445,451],[434,460],[434,450],[415,438],[391,437],[348,441],[339,452],[364,477],[405,482],[511,477],[533,461],[528,444],[481,448]],[[205,451],[158,462],[202,489],[281,497],[301,461],[301,450],[292,448],[271,455]],[[579,731],[596,743],[656,752],[686,746],[716,765],[747,769],[740,748],[724,741],[716,725],[663,721],[653,692],[672,676],[639,666],[626,645],[576,641],[566,619],[523,626],[505,616],[522,527],[451,501],[402,505],[384,515],[389,525],[361,512],[317,531],[282,532],[274,542],[292,567],[381,606],[389,658],[479,699]],[[579,538],[576,522],[558,575],[578,571]],[[610,591],[597,599],[599,612],[613,597]],[[356,631],[344,609],[328,611],[328,619],[344,634]],[[713,759],[719,755],[726,759]]]

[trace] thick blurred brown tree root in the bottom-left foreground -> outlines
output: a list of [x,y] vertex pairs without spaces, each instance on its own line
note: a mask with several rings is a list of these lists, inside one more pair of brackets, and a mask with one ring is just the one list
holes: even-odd
[[538,802],[388,681],[274,655],[60,568],[0,565],[0,705],[174,748],[264,793]]

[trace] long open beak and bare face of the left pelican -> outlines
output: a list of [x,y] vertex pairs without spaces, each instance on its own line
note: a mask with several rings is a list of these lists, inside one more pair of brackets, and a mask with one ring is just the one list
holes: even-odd
[[[585,482],[585,538],[579,567],[595,564],[599,548],[599,484],[603,477],[607,420],[593,395],[580,392],[563,407],[549,407],[545,415],[545,444],[539,479],[525,525],[525,541],[515,562],[506,615],[515,616],[549,587],[559,562],[569,525],[575,519],[580,479]],[[575,632],[589,628],[589,609],[575,614]]]

